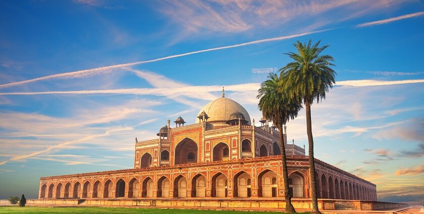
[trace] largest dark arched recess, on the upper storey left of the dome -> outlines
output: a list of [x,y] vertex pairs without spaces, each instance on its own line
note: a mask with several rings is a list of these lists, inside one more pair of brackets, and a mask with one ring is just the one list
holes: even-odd
[[190,138],[184,138],[175,147],[175,164],[197,163],[197,144]]

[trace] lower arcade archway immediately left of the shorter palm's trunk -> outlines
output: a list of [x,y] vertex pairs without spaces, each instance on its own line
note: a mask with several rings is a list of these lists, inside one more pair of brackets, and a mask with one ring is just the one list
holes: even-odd
[[277,197],[277,173],[265,170],[258,176],[258,196]]

